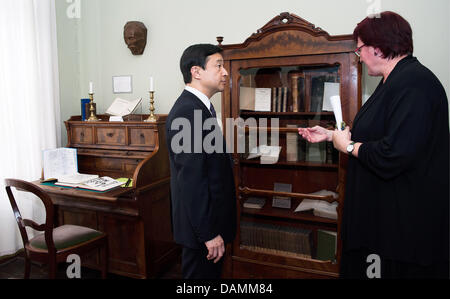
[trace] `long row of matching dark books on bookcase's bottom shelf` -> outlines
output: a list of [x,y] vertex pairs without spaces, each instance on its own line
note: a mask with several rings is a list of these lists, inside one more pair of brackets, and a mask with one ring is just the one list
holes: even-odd
[[241,221],[241,244],[249,247],[302,254],[311,258],[311,230],[268,223]]

